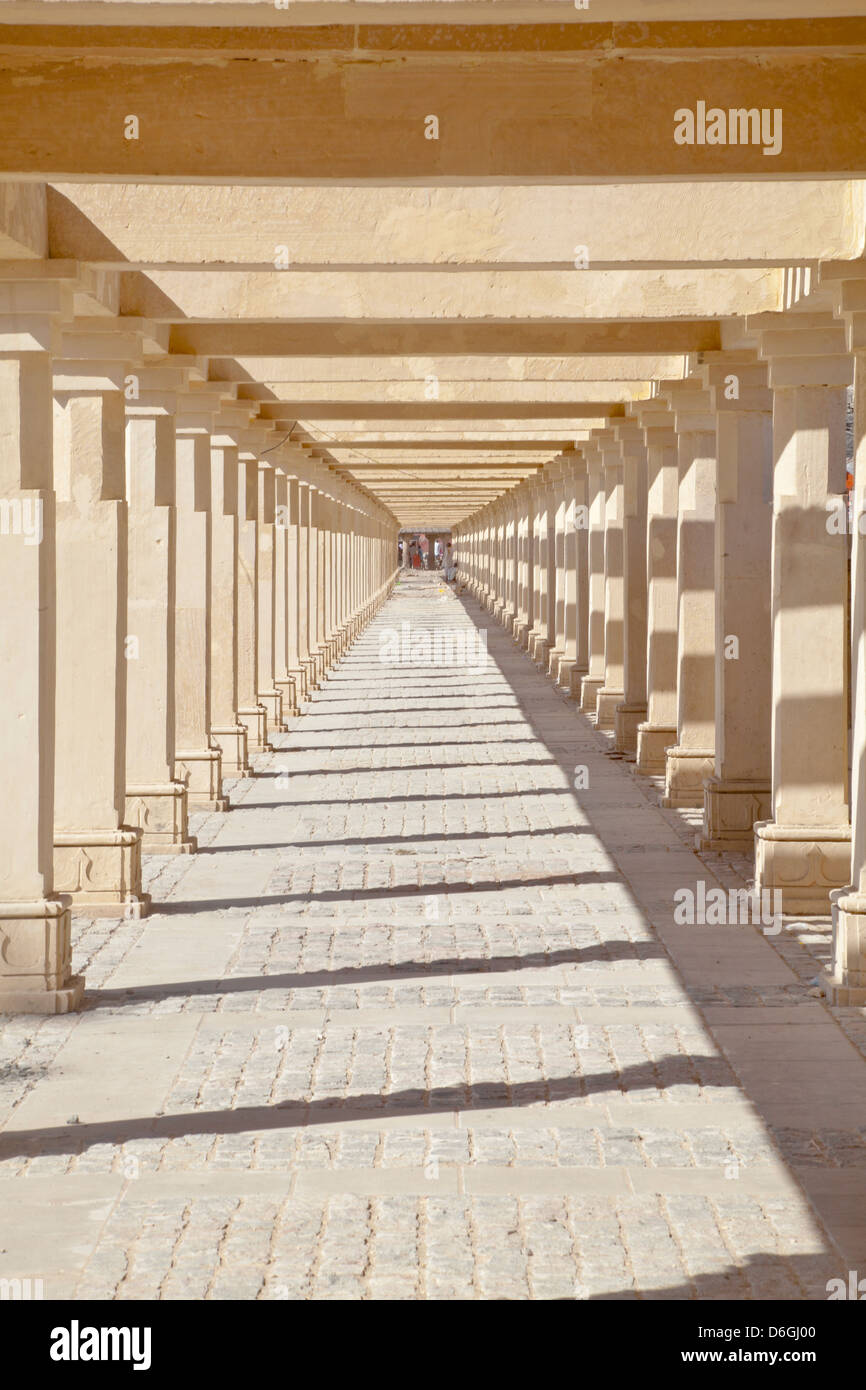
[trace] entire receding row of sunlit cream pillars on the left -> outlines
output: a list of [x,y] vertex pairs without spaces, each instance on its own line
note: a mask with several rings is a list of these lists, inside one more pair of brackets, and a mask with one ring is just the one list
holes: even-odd
[[[0,286],[0,1012],[76,1008],[71,917],[143,916],[142,853],[322,681],[395,582],[396,523],[64,296]],[[43,293],[36,293],[40,291]],[[114,320],[114,325],[117,325]],[[120,341],[118,341],[120,339]],[[138,350],[138,356],[136,356]]]

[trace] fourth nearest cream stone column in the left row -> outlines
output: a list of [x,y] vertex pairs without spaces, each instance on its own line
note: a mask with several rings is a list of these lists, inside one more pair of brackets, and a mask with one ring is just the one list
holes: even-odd
[[[195,398],[190,404],[197,404]],[[210,430],[178,399],[175,436],[175,774],[190,810],[228,810],[210,728]]]

